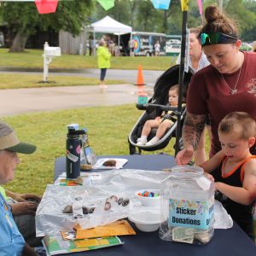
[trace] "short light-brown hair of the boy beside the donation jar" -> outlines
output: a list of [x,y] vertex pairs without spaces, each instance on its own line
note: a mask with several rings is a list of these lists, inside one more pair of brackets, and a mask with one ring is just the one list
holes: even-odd
[[247,140],[256,136],[256,122],[246,112],[231,112],[227,114],[218,125],[218,132],[229,133],[237,131],[240,139]]

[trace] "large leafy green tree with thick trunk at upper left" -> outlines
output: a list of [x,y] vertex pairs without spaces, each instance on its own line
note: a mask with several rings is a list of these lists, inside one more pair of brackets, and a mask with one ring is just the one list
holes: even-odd
[[24,51],[27,38],[36,28],[46,31],[50,27],[56,32],[62,29],[78,35],[92,6],[91,0],[60,1],[54,14],[39,15],[35,3],[1,3],[1,19],[14,34],[9,52]]

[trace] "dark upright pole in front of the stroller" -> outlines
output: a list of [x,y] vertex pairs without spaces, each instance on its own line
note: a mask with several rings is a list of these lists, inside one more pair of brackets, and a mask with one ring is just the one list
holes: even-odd
[[175,155],[179,150],[179,139],[181,137],[181,113],[183,103],[183,79],[184,79],[184,66],[185,66],[185,51],[186,51],[186,26],[187,26],[188,11],[183,10],[183,28],[182,28],[182,46],[180,55],[180,66],[178,75],[178,103],[177,103],[177,130],[176,130],[176,143],[175,143]]

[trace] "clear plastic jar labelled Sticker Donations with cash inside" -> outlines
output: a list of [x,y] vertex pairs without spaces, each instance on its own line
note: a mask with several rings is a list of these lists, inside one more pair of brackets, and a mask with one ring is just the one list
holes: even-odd
[[214,183],[201,167],[176,166],[160,191],[160,238],[206,244],[213,236]]

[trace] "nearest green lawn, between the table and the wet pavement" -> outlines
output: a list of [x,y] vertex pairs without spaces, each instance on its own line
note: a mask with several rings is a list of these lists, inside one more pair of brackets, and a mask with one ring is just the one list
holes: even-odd
[[[55,158],[65,155],[67,125],[71,123],[88,129],[96,154],[129,154],[127,137],[141,114],[135,105],[129,104],[5,117],[4,121],[15,128],[20,139],[38,146],[34,154],[20,154],[15,180],[5,187],[42,195],[47,183],[53,183]],[[160,152],[174,154],[173,143]]]

